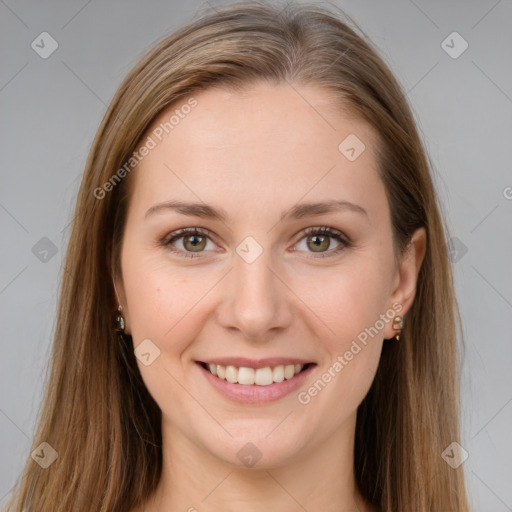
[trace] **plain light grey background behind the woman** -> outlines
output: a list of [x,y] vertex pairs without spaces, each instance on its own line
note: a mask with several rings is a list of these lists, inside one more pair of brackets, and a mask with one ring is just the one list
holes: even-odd
[[[468,487],[475,511],[512,511],[512,3],[335,4],[408,91],[435,167],[457,238]],[[131,66],[204,5],[0,0],[1,504],[30,455],[67,225],[95,131]],[[47,59],[31,47],[44,31],[59,45]],[[453,31],[469,44],[456,59],[441,46]]]

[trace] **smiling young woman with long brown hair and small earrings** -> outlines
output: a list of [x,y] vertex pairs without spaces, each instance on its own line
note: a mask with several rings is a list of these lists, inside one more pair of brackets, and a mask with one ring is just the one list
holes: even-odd
[[172,34],[90,152],[8,510],[467,511],[445,239],[404,93],[336,15]]

